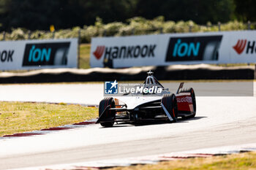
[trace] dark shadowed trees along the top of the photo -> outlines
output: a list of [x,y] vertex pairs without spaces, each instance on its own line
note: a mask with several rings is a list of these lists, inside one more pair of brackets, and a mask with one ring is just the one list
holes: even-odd
[[48,30],[94,25],[96,18],[103,23],[128,22],[140,16],[165,20],[193,20],[226,23],[230,20],[256,20],[253,0],[0,0],[0,31],[12,28]]

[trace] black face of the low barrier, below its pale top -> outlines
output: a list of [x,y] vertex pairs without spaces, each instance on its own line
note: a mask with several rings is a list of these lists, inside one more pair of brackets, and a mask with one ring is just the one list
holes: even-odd
[[[253,80],[255,69],[167,69],[166,67],[157,67],[151,69],[157,80]],[[90,82],[90,81],[109,81],[109,80],[145,80],[146,71],[127,74],[127,72],[94,71],[77,73],[74,71],[64,72],[37,72],[37,74],[13,74],[10,77],[0,76],[0,83],[25,83],[25,82]]]

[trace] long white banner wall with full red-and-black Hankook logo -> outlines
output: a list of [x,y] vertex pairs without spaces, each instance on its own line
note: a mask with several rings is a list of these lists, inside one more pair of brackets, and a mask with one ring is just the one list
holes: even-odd
[[256,31],[118,36],[91,40],[91,67],[256,63]]

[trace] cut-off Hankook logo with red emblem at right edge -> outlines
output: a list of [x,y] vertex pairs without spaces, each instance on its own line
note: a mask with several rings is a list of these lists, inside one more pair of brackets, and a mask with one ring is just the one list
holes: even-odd
[[233,49],[239,55],[243,53],[244,50],[246,54],[256,53],[255,41],[248,41],[247,39],[238,39],[236,45],[233,46]]

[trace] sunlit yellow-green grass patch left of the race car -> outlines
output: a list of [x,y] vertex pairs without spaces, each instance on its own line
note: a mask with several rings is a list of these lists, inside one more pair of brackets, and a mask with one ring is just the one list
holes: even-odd
[[0,136],[79,123],[97,114],[95,107],[64,103],[0,102]]

